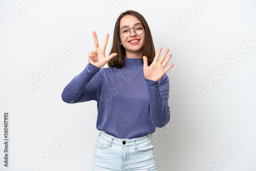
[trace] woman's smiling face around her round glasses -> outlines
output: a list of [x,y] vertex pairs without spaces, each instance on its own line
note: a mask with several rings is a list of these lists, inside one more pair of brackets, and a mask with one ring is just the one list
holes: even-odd
[[[119,31],[121,31],[122,28],[130,29],[138,25],[142,25],[138,18],[136,18],[133,15],[125,15],[120,20]],[[142,53],[143,42],[145,38],[145,31],[142,34],[138,35],[135,33],[134,29],[130,29],[130,30],[131,30],[131,34],[128,37],[123,37],[121,33],[119,33],[121,45],[123,45],[124,49],[126,50],[126,53],[127,52]]]

